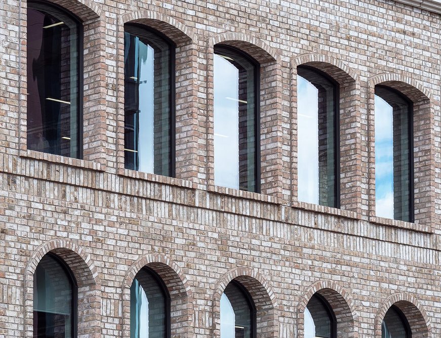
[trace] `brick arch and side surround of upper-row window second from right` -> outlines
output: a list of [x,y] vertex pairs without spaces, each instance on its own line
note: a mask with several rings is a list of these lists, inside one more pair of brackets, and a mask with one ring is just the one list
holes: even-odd
[[[344,61],[323,54],[304,54],[291,59],[293,144],[302,142],[302,140],[298,140],[297,133],[298,66],[309,66],[324,72],[339,85],[339,114],[337,118],[339,119],[340,126],[340,144],[337,150],[340,155],[340,206],[341,209],[359,214],[362,212],[360,205],[362,205],[363,187],[366,185],[363,180],[367,175],[367,170],[362,161],[363,145],[359,132],[362,130],[362,113],[360,110],[360,82],[358,73]],[[366,173],[363,173],[363,171],[366,171]],[[293,203],[296,203],[298,202],[298,157],[297,148],[295,147],[293,147],[292,151],[291,172]]]

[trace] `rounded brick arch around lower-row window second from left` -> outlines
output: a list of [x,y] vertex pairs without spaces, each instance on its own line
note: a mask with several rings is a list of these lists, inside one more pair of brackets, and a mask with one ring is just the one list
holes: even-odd
[[143,267],[154,270],[170,294],[172,336],[192,336],[193,292],[187,278],[170,258],[161,254],[147,254],[129,268],[123,281],[123,337],[130,337],[130,286]]

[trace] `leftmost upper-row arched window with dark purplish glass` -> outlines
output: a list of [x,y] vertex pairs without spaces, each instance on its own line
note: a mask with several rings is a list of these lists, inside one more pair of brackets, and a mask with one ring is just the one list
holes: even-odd
[[46,3],[27,9],[27,148],[82,156],[82,26]]

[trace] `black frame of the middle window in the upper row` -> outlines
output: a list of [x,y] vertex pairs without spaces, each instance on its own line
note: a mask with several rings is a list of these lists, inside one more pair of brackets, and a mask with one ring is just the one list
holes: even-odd
[[[219,53],[220,51],[220,53]],[[213,54],[222,54],[222,51],[225,51],[228,54],[236,54],[240,57],[243,57],[244,59],[246,59],[248,62],[250,62],[253,65],[254,68],[254,135],[255,135],[255,140],[254,140],[254,148],[255,148],[255,153],[254,153],[254,176],[255,176],[255,183],[254,186],[256,187],[255,191],[251,191],[251,192],[256,192],[256,193],[260,193],[261,192],[261,158],[260,158],[260,153],[261,153],[261,149],[260,149],[260,63],[259,61],[257,61],[255,58],[253,58],[251,55],[249,55],[248,53],[240,50],[239,48],[230,46],[230,45],[225,45],[222,43],[216,44],[213,47]],[[213,71],[214,74],[214,71]],[[214,95],[213,95],[214,96]],[[239,190],[240,189],[239,187]],[[250,190],[244,190],[244,191],[250,191]]]

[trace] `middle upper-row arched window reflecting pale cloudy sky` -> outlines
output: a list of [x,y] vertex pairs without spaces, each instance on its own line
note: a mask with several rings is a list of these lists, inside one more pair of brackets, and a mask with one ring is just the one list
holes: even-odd
[[259,192],[259,64],[231,47],[214,53],[215,184]]

